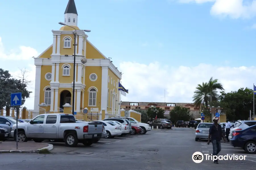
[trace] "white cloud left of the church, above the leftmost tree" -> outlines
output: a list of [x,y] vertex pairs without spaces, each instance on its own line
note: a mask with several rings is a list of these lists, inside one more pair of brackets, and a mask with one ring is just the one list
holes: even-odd
[[11,50],[11,52],[5,52],[2,38],[0,37],[0,59],[4,60],[27,60],[33,56],[37,57],[39,53],[36,49],[28,46],[20,46],[19,50]]

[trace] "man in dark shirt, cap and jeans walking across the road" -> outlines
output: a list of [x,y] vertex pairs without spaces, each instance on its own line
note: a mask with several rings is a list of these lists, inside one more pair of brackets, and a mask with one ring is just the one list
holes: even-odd
[[[212,155],[216,155],[216,156],[221,150],[221,146],[220,146],[221,138],[223,138],[225,142],[221,126],[220,124],[218,124],[218,120],[219,120],[218,117],[213,118],[213,125],[209,129],[209,136],[208,136],[208,142],[207,142],[207,144],[209,145],[210,139],[212,140],[212,149],[213,149]],[[214,163],[218,163],[218,160],[215,160]]]

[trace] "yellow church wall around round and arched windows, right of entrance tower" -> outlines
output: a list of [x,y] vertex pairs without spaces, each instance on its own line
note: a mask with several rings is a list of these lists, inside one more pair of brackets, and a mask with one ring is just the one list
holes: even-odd
[[[96,81],[91,81],[89,76],[90,74],[95,73],[97,75]],[[98,66],[87,66],[85,67],[85,89],[84,89],[84,106],[88,106],[88,99],[89,99],[89,92],[88,89],[90,87],[96,87],[98,89],[97,97],[96,97],[96,107],[92,108],[99,108],[101,109],[101,78],[102,78],[102,68]],[[81,101],[82,102],[82,101]],[[91,107],[87,107],[89,110]]]

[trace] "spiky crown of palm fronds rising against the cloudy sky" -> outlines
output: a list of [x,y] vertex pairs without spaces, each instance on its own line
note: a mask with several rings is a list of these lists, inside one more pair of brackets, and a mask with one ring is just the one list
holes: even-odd
[[219,95],[217,94],[217,90],[224,90],[222,84],[218,83],[218,79],[213,79],[212,77],[208,82],[198,84],[196,89],[193,102],[195,103],[195,107],[199,107],[200,110],[204,105],[208,107],[211,97],[212,100],[218,99]]

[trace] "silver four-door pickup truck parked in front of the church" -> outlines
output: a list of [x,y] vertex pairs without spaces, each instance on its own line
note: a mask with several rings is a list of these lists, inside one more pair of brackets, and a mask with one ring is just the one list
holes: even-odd
[[[30,122],[18,124],[18,142],[35,142],[44,140],[64,140],[70,147],[78,143],[92,145],[93,141],[100,139],[104,127],[102,123],[76,123],[72,114],[40,114]],[[16,124],[13,125],[11,136],[16,141]]]

